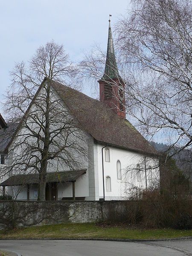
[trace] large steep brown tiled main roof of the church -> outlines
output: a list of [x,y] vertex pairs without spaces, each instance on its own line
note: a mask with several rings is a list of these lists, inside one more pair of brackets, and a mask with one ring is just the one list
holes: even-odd
[[52,87],[63,99],[81,128],[98,142],[116,145],[145,154],[159,152],[127,120],[119,117],[108,105],[59,83]]

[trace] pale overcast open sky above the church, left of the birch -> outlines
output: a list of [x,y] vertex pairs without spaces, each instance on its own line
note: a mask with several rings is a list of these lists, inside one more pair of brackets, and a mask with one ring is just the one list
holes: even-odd
[[129,0],[0,0],[0,100],[10,84],[15,62],[28,61],[52,39],[64,44],[73,61],[99,44],[107,47],[111,25],[129,9]]

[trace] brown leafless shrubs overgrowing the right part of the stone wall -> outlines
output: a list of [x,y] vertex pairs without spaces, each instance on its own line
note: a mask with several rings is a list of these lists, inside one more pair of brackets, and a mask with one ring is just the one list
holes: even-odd
[[143,191],[142,200],[103,203],[104,224],[131,224],[146,228],[192,229],[192,200],[179,200],[157,190]]

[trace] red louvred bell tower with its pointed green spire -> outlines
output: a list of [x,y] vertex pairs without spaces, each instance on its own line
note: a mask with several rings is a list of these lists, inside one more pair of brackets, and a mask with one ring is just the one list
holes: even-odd
[[105,102],[118,116],[125,118],[125,83],[119,76],[116,64],[110,19],[105,72],[98,82],[100,101]]

